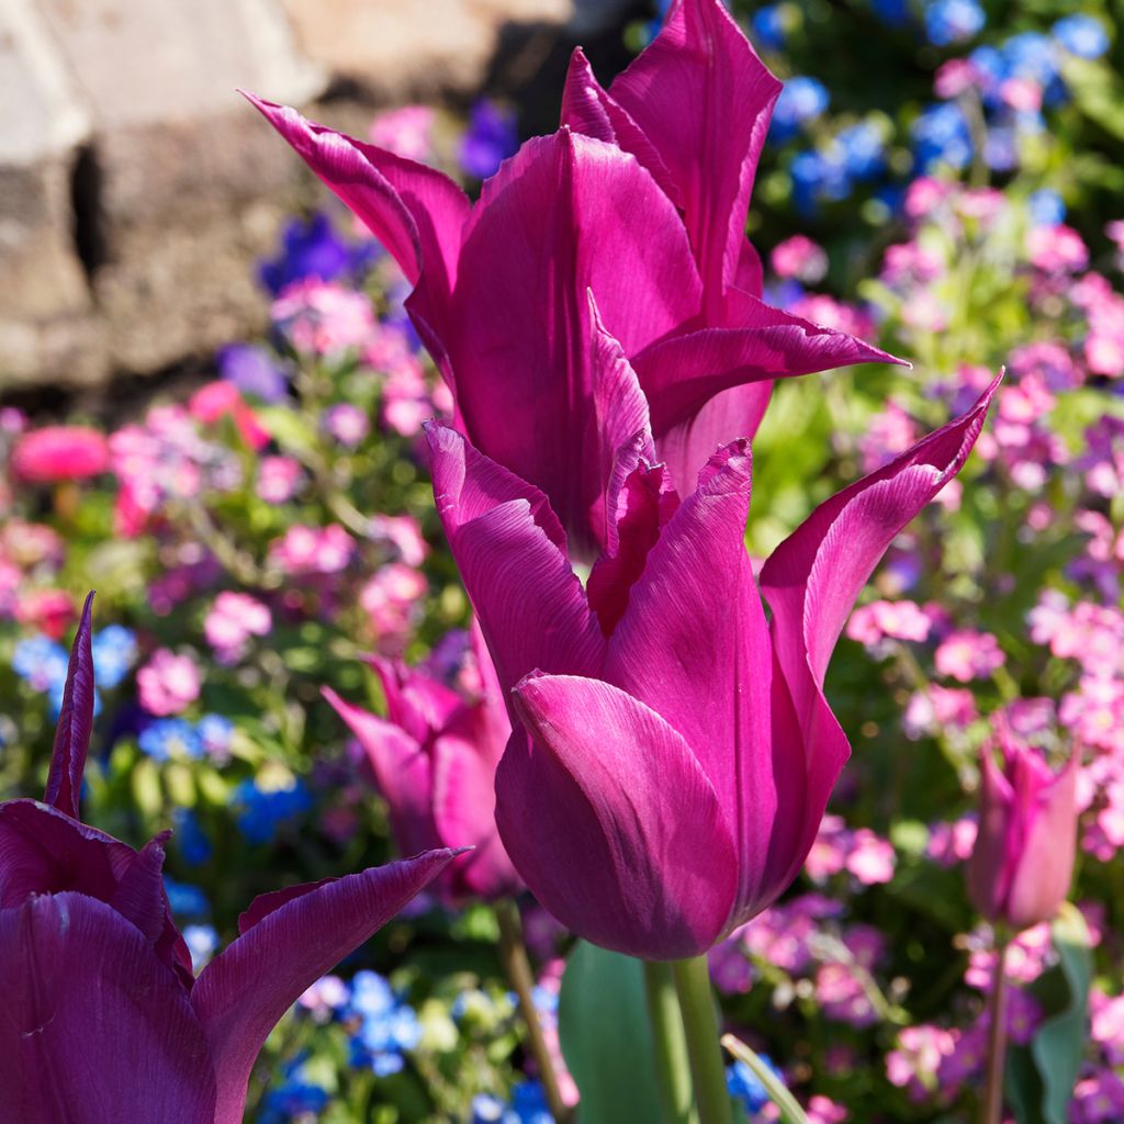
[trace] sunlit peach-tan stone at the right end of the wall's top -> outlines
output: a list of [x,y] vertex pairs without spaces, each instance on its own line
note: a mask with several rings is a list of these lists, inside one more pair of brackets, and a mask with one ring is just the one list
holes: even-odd
[[561,28],[573,0],[281,0],[301,47],[380,99],[470,92],[511,25]]

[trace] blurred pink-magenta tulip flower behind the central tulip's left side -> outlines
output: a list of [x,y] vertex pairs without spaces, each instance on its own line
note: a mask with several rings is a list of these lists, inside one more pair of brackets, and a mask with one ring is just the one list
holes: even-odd
[[434,883],[451,905],[493,901],[523,889],[496,831],[496,767],[511,724],[475,624],[472,651],[481,694],[471,703],[422,669],[379,656],[371,665],[382,683],[386,718],[324,688],[366,753],[399,852],[473,847]]

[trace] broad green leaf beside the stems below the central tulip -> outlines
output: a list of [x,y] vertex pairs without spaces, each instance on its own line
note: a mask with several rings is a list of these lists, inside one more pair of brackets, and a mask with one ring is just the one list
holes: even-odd
[[562,977],[559,1039],[581,1093],[580,1124],[661,1118],[638,960],[579,941]]

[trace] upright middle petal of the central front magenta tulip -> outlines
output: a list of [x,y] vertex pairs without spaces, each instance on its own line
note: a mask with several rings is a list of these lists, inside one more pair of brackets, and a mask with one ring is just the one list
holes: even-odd
[[[716,454],[647,555],[609,640],[604,678],[661,715],[690,746],[737,841],[741,901],[767,862],[778,791],[801,763],[773,760],[772,656],[750,558],[747,442]],[[795,771],[795,779],[788,777]]]

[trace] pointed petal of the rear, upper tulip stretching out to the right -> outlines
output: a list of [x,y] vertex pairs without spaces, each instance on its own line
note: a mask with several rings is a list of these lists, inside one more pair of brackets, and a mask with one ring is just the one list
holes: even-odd
[[[903,363],[855,336],[821,327],[749,293],[736,294],[735,308],[736,327],[673,336],[633,360],[656,438],[691,418],[719,391],[741,383],[788,379],[855,363]],[[727,433],[719,439],[752,436]]]

